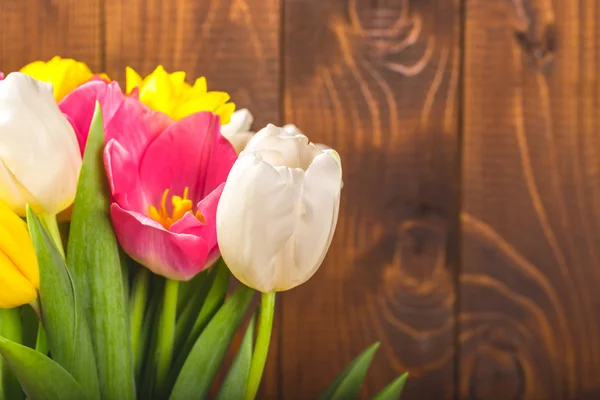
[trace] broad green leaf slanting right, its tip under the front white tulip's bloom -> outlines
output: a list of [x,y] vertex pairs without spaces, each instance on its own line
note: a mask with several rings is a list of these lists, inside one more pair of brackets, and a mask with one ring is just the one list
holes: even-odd
[[207,396],[253,293],[246,286],[239,287],[209,322],[175,381],[172,400],[203,399]]

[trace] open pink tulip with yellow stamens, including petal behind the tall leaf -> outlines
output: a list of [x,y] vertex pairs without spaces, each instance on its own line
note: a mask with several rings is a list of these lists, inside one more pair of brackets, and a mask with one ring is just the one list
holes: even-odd
[[189,280],[219,256],[216,211],[237,155],[219,116],[178,122],[124,96],[116,82],[86,83],[60,103],[82,149],[98,100],[111,216],[123,249],[153,272]]

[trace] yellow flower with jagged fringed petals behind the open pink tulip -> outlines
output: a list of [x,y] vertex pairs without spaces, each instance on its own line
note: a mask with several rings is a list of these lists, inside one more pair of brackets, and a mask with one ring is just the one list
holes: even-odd
[[133,68],[127,67],[126,80],[127,94],[137,87],[142,103],[176,121],[199,111],[210,111],[219,115],[221,125],[225,125],[235,110],[235,104],[228,103],[227,93],[207,90],[205,77],[190,85],[185,81],[185,72],[168,73],[162,65],[143,79]]

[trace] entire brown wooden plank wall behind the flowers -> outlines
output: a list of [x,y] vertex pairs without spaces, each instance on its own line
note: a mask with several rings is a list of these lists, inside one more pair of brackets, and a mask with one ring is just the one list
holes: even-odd
[[344,161],[325,265],[281,296],[263,398],[600,399],[597,0],[0,0],[0,70],[158,63]]

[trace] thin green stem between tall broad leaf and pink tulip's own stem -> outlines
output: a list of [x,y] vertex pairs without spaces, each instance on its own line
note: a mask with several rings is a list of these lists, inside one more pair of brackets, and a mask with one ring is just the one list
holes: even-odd
[[139,370],[143,358],[143,349],[140,348],[140,335],[148,299],[149,275],[150,272],[146,268],[140,267],[135,275],[131,292],[131,348],[133,349],[136,371]]

